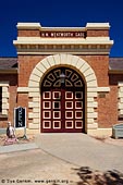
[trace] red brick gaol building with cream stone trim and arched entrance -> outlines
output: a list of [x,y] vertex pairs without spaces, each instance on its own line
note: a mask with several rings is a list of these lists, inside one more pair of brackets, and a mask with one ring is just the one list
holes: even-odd
[[123,115],[123,58],[110,58],[109,23],[19,23],[17,58],[0,59],[0,127],[26,108],[28,133],[109,135]]

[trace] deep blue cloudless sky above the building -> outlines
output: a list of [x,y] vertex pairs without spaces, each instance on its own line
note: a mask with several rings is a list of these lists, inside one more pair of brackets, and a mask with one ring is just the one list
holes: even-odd
[[123,57],[123,0],[1,0],[0,57],[16,57],[17,23],[47,27],[85,27],[110,23],[110,57]]

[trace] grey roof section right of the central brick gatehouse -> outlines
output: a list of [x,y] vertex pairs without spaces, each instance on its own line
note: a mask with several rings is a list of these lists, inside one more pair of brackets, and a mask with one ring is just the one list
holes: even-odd
[[109,58],[109,70],[123,72],[123,58]]

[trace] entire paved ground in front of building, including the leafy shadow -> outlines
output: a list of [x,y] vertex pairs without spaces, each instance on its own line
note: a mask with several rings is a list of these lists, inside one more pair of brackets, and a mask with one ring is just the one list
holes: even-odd
[[35,143],[2,146],[0,185],[122,185],[123,145],[109,143],[84,134],[41,134]]

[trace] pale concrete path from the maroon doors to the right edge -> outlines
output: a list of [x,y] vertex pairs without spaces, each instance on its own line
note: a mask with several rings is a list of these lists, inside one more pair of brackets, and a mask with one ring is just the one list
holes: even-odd
[[123,146],[104,144],[85,134],[41,134],[36,137],[36,144],[78,166],[123,172]]

